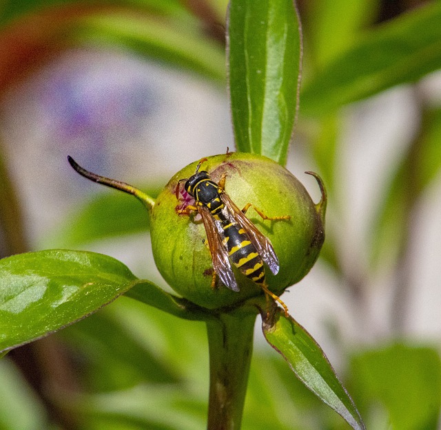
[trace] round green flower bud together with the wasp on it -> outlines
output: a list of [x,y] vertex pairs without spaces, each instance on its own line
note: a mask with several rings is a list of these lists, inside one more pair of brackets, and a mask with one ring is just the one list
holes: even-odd
[[281,294],[318,257],[325,203],[314,204],[294,175],[260,155],[195,162],[152,210],[156,266],[178,294],[206,308],[236,305],[266,286]]

